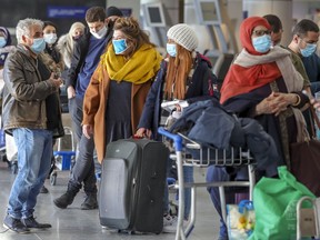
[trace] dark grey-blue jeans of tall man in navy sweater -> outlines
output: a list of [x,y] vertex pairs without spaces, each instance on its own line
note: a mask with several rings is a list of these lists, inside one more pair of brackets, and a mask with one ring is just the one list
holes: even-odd
[[87,194],[97,192],[97,179],[94,174],[94,141],[93,137],[90,139],[82,134],[82,104],[83,100],[72,98],[69,99],[69,111],[72,119],[72,128],[76,131],[79,151],[77,152],[76,163],[72,168],[70,182],[74,187],[80,187],[84,183],[84,192]]

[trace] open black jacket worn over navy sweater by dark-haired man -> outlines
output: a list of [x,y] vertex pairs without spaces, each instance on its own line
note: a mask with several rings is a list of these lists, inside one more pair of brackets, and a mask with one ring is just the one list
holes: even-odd
[[[109,42],[112,39],[112,34],[113,34],[112,28],[108,28],[107,34],[104,37],[107,38],[107,42]],[[76,89],[78,74],[83,67],[84,59],[89,50],[90,37],[91,37],[91,33],[89,29],[86,28],[84,34],[74,43],[71,66],[68,71],[68,77],[66,79],[67,88],[69,86],[73,86],[73,88]],[[106,49],[107,49],[107,46],[106,46]]]

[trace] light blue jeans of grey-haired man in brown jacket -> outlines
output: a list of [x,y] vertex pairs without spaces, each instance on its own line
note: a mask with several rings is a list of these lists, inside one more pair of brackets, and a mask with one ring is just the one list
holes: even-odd
[[34,212],[37,197],[50,171],[52,132],[49,130],[17,128],[13,138],[18,148],[18,174],[12,184],[8,214],[29,218]]

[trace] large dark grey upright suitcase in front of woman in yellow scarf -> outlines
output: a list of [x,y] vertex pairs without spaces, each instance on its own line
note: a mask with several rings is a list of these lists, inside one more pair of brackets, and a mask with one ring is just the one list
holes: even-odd
[[110,142],[99,189],[101,226],[160,233],[169,150],[162,142],[122,139]]

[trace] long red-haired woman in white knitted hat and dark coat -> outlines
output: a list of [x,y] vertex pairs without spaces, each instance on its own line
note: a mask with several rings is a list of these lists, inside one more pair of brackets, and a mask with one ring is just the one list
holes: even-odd
[[[159,141],[161,141],[161,137],[157,129],[164,126],[168,119],[168,114],[160,109],[161,102],[179,99],[192,103],[218,94],[217,77],[211,71],[211,63],[196,51],[198,47],[197,33],[188,24],[181,23],[171,27],[167,32],[167,52],[169,56],[162,61],[161,70],[149,91],[136,132],[139,137],[152,137]],[[177,111],[181,113],[181,106],[177,106]],[[168,167],[169,169],[170,167]],[[192,182],[192,167],[184,167],[183,171],[184,181]],[[184,192],[183,218],[187,221],[190,213],[191,192],[190,189],[186,189]],[[164,200],[163,232],[176,232],[177,219],[174,221],[169,216],[167,187]]]

